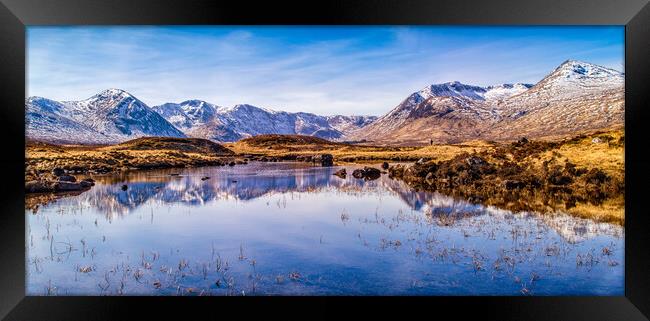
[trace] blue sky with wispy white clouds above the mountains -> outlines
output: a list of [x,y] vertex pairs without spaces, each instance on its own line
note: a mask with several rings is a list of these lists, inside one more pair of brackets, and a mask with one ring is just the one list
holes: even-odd
[[428,84],[536,83],[567,59],[623,71],[624,28],[28,27],[27,94],[381,115]]

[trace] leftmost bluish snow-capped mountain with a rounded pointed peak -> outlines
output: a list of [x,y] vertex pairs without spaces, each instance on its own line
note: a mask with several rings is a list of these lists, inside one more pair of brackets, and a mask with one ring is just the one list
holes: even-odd
[[117,143],[142,136],[185,137],[162,116],[120,89],[80,101],[26,101],[27,137],[52,142]]

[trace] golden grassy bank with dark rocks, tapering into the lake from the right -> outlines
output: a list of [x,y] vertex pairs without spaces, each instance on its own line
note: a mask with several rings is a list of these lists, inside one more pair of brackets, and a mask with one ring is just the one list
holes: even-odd
[[396,165],[392,177],[512,211],[562,211],[624,224],[623,131],[503,144],[443,161]]

